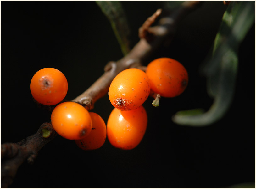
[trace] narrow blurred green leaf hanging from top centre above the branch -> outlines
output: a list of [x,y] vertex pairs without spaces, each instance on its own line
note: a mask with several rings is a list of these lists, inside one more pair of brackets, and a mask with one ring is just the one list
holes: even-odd
[[120,1],[96,1],[96,3],[109,19],[122,53],[126,55],[130,51],[128,40],[130,29]]

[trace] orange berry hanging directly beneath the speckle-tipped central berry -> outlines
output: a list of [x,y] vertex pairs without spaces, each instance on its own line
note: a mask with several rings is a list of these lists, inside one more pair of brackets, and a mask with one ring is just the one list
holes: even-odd
[[108,140],[116,148],[131,150],[141,142],[146,128],[147,112],[143,106],[129,111],[114,108],[107,123]]

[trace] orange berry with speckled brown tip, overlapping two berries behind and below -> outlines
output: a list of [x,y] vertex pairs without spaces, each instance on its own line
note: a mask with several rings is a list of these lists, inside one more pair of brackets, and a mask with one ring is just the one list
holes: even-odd
[[134,110],[141,106],[150,93],[145,72],[137,68],[117,74],[109,87],[109,100],[119,110]]

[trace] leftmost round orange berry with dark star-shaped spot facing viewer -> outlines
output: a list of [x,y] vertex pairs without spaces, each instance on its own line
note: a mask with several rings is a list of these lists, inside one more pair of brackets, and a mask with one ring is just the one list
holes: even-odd
[[30,91],[37,102],[43,105],[56,105],[66,96],[68,81],[58,69],[43,68],[32,77]]

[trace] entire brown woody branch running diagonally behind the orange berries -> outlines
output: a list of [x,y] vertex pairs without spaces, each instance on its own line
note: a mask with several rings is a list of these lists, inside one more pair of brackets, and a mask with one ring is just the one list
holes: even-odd
[[[84,93],[76,97],[74,102],[83,105],[87,110],[93,109],[94,103],[107,94],[109,86],[114,77],[121,71],[141,65],[149,58],[150,55],[158,49],[165,40],[172,38],[177,24],[188,13],[200,5],[198,1],[184,2],[180,8],[176,9],[169,17],[159,20],[159,25],[150,27],[161,11],[157,11],[153,17],[149,18],[143,25],[140,34],[140,41],[135,47],[122,59],[117,62],[109,62],[105,66],[104,74],[95,81]],[[142,33],[151,33],[154,35],[152,40],[145,38]],[[159,97],[158,97],[159,98]],[[44,123],[40,126],[36,134],[31,135],[18,143],[1,144],[1,187],[8,187],[16,175],[19,166],[27,160],[33,163],[37,152],[57,133],[50,123]]]

